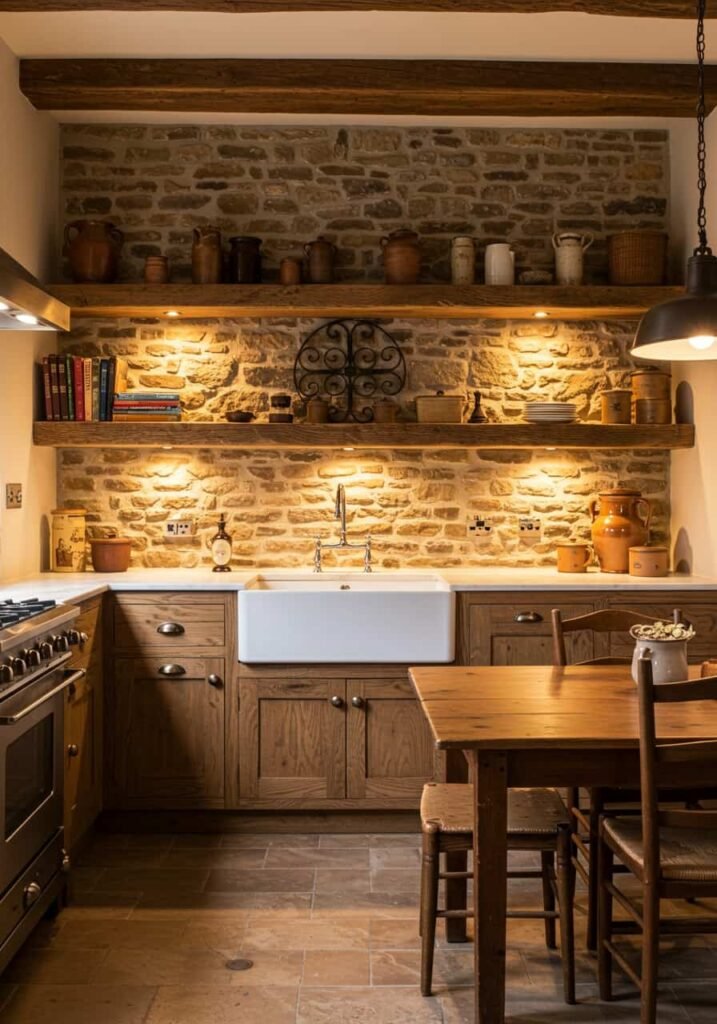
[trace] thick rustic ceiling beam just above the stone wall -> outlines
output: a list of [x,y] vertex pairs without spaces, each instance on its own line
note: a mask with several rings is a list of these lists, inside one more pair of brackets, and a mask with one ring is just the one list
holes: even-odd
[[692,65],[505,60],[26,59],[19,84],[47,111],[434,117],[693,117],[697,89]]

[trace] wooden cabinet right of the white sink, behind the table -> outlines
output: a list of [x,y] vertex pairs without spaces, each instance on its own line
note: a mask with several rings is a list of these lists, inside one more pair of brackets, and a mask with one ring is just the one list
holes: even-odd
[[[584,615],[595,608],[582,595],[565,601],[564,594],[469,593],[459,595],[459,665],[550,665],[553,608],[565,618]],[[609,653],[608,638],[590,633],[565,637],[570,660],[584,662]]]

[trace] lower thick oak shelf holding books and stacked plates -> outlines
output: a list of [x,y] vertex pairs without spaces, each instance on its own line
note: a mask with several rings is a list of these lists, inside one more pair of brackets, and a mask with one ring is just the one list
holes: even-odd
[[691,424],[275,424],[43,423],[36,444],[50,447],[249,449],[686,449]]

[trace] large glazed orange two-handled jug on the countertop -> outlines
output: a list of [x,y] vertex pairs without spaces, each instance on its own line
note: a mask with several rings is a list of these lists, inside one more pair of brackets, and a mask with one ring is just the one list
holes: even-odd
[[[644,509],[644,518],[640,516]],[[627,572],[630,548],[647,543],[651,506],[639,490],[616,487],[590,505],[592,546],[603,572]]]

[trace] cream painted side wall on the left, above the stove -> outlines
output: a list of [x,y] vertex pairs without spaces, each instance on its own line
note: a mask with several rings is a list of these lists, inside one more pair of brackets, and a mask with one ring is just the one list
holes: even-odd
[[[0,40],[0,246],[38,278],[55,263],[57,126],[17,89],[17,60]],[[0,583],[43,565],[47,513],[55,503],[55,456],[32,443],[34,365],[54,333],[0,334]],[[24,489],[22,510],[4,508],[7,482]]]

